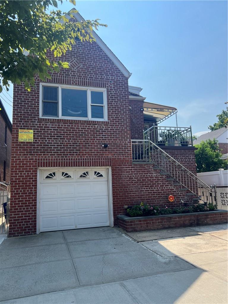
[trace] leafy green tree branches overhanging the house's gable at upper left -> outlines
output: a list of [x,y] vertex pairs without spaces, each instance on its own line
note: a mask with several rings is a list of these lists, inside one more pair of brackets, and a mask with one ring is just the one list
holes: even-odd
[[[75,5],[75,0],[69,0]],[[62,0],[59,0],[62,4]],[[9,90],[9,81],[16,84],[24,82],[30,91],[34,86],[34,75],[46,81],[51,72],[68,68],[68,62],[50,60],[47,50],[54,57],[71,50],[75,39],[93,42],[93,28],[106,26],[99,19],[78,22],[72,9],[68,13],[50,10],[58,7],[56,0],[47,1],[0,1],[0,92],[2,85]],[[74,19],[74,20],[73,20]]]

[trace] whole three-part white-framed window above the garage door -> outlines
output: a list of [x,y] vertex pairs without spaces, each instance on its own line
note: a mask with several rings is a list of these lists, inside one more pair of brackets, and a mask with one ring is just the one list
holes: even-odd
[[108,120],[106,89],[40,83],[40,118]]

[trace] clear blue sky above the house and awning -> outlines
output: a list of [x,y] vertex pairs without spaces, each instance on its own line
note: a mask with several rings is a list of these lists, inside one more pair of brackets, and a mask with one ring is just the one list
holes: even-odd
[[[85,19],[132,73],[146,101],[178,108],[178,125],[207,131],[227,101],[226,1],[77,1]],[[64,1],[63,11],[73,6]],[[12,96],[12,91],[9,92]],[[2,98],[11,98],[5,92]],[[9,116],[12,107],[3,101]],[[9,102],[10,103],[10,102]],[[175,118],[166,126],[174,126]]]

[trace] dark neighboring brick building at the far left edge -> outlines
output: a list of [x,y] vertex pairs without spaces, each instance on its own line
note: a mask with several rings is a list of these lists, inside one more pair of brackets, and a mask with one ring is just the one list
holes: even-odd
[[0,181],[10,182],[12,123],[0,99]]

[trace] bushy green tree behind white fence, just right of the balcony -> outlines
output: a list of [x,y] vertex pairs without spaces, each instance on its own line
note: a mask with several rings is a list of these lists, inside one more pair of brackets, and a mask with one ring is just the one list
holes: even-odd
[[220,168],[227,169],[227,161],[220,159],[222,153],[219,151],[218,140],[201,141],[195,145],[195,161],[197,165],[197,172],[217,171]]

